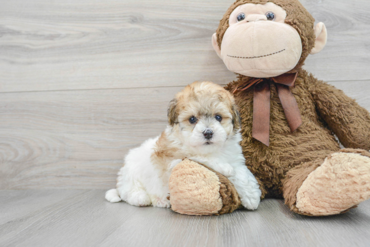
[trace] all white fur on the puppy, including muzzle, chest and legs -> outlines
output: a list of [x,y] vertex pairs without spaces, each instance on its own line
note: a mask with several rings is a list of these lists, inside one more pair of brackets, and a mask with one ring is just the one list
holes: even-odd
[[[212,116],[211,114],[209,116]],[[169,164],[160,164],[166,172],[161,172],[158,164],[153,165],[151,155],[159,137],[148,139],[140,147],[130,150],[125,157],[125,165],[118,172],[117,189],[108,190],[106,200],[115,203],[121,200],[135,206],[170,207],[168,178],[172,168],[184,158],[207,165],[227,176],[234,185],[242,206],[256,209],[260,203],[261,191],[257,180],[245,165],[239,145],[241,135],[233,131],[231,114],[221,124],[214,117],[199,117],[196,124],[188,124],[184,114],[179,123],[167,126],[164,134],[168,145],[179,150]],[[203,132],[213,130],[212,139],[206,140]],[[210,142],[211,144],[207,143]]]

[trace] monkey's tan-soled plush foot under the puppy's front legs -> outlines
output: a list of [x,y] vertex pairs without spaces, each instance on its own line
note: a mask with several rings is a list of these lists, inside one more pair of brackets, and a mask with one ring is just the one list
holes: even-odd
[[169,181],[171,208],[190,215],[220,215],[240,207],[231,182],[222,174],[185,159]]

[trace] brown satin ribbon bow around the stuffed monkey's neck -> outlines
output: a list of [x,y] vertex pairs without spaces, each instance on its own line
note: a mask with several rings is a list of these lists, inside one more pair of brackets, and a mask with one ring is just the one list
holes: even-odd
[[282,108],[284,109],[290,130],[293,132],[302,124],[297,101],[289,88],[294,86],[297,76],[298,73],[283,74],[272,78],[254,78],[236,87],[233,91],[233,93],[236,91],[244,91],[255,84],[253,95],[252,137],[266,146],[269,146],[270,143],[270,82],[276,83],[277,94]]

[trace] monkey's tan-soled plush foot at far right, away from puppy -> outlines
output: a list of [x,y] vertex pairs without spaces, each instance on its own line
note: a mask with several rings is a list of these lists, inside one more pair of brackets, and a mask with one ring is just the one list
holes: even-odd
[[345,212],[370,198],[370,153],[344,149],[331,154],[298,189],[299,212],[322,216]]

